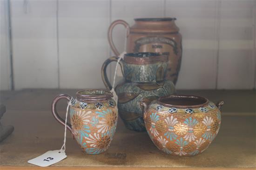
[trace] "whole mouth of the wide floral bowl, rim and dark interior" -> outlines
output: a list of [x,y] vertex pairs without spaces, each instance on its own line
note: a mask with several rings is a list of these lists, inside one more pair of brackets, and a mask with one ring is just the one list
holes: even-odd
[[209,103],[209,100],[197,95],[170,95],[160,97],[157,101],[165,107],[197,108]]

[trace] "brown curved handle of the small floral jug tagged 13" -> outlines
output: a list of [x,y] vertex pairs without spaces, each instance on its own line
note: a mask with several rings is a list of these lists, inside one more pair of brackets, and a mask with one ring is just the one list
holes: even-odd
[[[63,120],[60,115],[57,112],[56,109],[56,104],[58,103],[58,101],[60,101],[61,99],[67,99],[67,101],[69,102],[71,100],[71,97],[68,94],[59,94],[58,96],[56,96],[52,102],[52,113],[54,115],[54,118],[63,126],[65,126],[65,120]],[[67,129],[71,132],[72,137],[74,139],[74,133],[72,132],[72,127],[69,123],[67,123]]]

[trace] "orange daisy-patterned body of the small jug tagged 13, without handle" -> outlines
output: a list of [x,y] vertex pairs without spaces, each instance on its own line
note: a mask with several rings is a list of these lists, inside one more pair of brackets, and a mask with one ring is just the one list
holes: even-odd
[[106,151],[117,125],[115,101],[86,103],[72,100],[71,105],[69,115],[72,133],[81,149],[88,154]]

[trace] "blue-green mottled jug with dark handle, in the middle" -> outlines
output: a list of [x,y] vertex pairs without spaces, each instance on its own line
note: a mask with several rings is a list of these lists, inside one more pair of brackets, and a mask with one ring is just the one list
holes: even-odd
[[[106,69],[119,57],[110,57],[101,68],[101,77],[110,90]],[[124,80],[115,87],[118,113],[128,129],[146,131],[142,118],[141,101],[151,102],[161,96],[175,93],[173,82],[165,79],[168,56],[151,52],[127,53],[119,63]]]

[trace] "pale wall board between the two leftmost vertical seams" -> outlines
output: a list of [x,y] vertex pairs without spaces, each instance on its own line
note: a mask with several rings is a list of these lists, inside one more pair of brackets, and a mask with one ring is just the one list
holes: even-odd
[[58,88],[56,1],[11,1],[14,88]]

